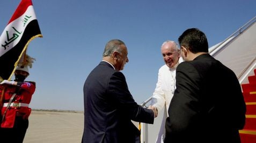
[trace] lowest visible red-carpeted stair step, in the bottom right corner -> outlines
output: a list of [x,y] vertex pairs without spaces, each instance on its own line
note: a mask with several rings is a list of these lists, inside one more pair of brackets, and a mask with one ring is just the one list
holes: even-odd
[[256,130],[239,130],[242,143],[255,143]]

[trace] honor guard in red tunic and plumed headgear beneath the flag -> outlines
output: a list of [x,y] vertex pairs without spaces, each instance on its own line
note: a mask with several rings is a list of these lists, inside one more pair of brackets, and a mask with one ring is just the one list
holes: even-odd
[[24,81],[30,75],[28,67],[32,67],[34,58],[26,55],[14,71],[15,80],[4,80],[0,83],[0,95],[3,96],[1,108],[0,142],[23,142],[28,128],[30,104],[35,91],[35,83]]

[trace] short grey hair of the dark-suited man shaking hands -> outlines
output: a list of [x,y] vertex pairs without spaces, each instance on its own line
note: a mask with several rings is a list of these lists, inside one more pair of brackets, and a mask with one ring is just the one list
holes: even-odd
[[105,46],[103,57],[111,56],[111,54],[115,51],[121,52],[120,45],[125,45],[125,43],[120,39],[112,39],[109,41]]

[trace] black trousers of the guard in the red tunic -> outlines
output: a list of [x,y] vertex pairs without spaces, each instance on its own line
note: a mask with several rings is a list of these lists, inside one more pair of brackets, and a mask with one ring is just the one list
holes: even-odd
[[0,142],[22,143],[28,128],[28,120],[21,116],[15,118],[13,128],[0,128]]

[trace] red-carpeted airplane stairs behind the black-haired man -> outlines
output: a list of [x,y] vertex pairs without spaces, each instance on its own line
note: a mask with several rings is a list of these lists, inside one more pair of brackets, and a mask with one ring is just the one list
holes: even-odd
[[243,130],[240,130],[242,143],[256,142],[256,69],[254,75],[248,76],[248,82],[242,84],[243,95],[246,102],[246,121]]

